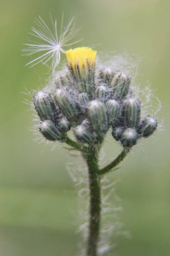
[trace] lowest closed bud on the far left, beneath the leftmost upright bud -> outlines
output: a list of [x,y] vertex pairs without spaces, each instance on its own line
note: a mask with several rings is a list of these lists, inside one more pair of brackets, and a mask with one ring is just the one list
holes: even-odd
[[60,140],[61,139],[61,133],[54,124],[54,122],[50,120],[42,121],[40,124],[40,132],[46,139],[49,139],[50,141]]

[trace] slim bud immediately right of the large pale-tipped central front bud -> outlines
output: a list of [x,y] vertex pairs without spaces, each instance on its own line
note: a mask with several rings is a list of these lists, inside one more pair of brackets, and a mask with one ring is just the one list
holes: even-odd
[[116,100],[108,100],[105,104],[109,125],[114,125],[118,118],[120,104]]

